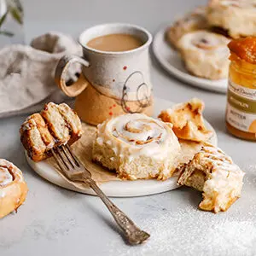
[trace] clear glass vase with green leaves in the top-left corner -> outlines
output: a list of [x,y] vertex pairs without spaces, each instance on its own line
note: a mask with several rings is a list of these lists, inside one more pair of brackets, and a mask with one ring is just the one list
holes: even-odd
[[23,43],[23,8],[20,0],[0,0],[0,49],[7,44]]

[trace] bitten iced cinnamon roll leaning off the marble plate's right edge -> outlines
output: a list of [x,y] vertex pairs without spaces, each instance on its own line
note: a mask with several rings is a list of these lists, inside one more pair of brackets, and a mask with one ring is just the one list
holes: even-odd
[[230,156],[206,144],[193,160],[181,167],[177,180],[203,192],[199,207],[205,211],[226,211],[241,195],[244,172],[234,164]]

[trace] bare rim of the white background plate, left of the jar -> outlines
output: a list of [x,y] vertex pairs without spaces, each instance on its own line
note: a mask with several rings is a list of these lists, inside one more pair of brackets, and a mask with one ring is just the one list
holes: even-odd
[[166,42],[166,28],[163,28],[154,36],[153,51],[155,57],[160,62],[161,66],[171,73],[177,79],[195,87],[200,87],[205,90],[212,90],[221,93],[227,92],[227,79],[209,80],[201,79],[190,74],[183,65],[183,62],[175,49]]

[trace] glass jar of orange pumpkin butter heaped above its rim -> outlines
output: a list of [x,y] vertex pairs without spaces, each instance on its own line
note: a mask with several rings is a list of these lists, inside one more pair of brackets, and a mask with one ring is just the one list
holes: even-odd
[[256,37],[232,40],[226,125],[236,137],[256,142]]

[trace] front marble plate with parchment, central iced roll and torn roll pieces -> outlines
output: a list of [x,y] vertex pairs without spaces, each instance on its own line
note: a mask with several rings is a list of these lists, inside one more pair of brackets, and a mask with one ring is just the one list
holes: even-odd
[[92,126],[81,123],[67,104],[49,102],[20,127],[26,159],[49,182],[94,194],[84,185],[73,187],[55,172],[58,166],[50,149],[68,143],[109,196],[152,195],[177,189],[177,167],[192,159],[204,141],[217,145],[217,137],[202,117],[201,100],[174,106],[158,99],[155,103],[154,117],[127,113]]

